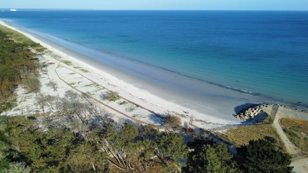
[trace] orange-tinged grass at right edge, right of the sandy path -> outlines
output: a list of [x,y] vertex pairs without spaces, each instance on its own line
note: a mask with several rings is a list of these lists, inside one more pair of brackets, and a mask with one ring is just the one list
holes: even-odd
[[308,152],[308,121],[284,118],[281,120],[283,131],[290,141],[302,151]]

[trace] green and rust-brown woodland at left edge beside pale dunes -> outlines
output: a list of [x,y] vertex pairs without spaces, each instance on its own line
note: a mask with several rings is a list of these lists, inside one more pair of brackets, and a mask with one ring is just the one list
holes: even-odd
[[14,107],[14,89],[22,78],[37,68],[36,53],[28,51],[29,44],[14,42],[0,30],[0,113]]

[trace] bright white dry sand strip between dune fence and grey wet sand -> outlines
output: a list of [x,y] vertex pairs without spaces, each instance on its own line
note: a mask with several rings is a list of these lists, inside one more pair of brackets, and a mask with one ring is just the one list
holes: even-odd
[[[185,108],[182,107],[180,105],[174,104],[172,102],[168,102],[166,100],[163,100],[157,96],[154,96],[152,94],[150,94],[149,92],[147,92],[146,90],[141,90],[139,88],[134,87],[131,84],[128,84],[122,80],[117,79],[114,76],[111,76],[110,74],[101,71],[99,69],[96,69],[95,67],[92,67],[91,65],[88,65],[78,59],[75,59],[74,57],[71,57],[69,55],[67,55],[66,53],[63,53],[62,51],[53,48],[51,45],[46,44],[45,42],[39,40],[38,38],[23,32],[21,29],[18,29],[16,27],[13,26],[9,26],[4,22],[0,22],[0,24],[2,24],[3,26],[6,26],[10,29],[16,30],[20,33],[22,33],[23,35],[25,35],[26,37],[30,38],[32,41],[40,43],[42,46],[46,47],[47,49],[49,49],[50,51],[54,52],[55,54],[61,56],[61,57],[65,57],[66,60],[72,61],[74,63],[77,63],[79,65],[81,65],[82,67],[86,68],[86,69],[90,69],[91,73],[90,74],[86,74],[88,75],[88,77],[97,82],[98,84],[102,85],[103,87],[106,87],[108,89],[111,90],[115,90],[120,92],[120,96],[123,96],[129,100],[132,100],[133,102],[140,104],[141,106],[148,108],[156,113],[165,113],[167,111],[169,112],[183,112],[188,110],[189,111],[189,115],[193,115],[197,120],[201,120],[201,122],[195,122],[194,124],[197,125],[198,127],[202,127],[202,128],[206,128],[207,124],[209,126],[211,126],[210,124],[216,124],[216,126],[225,126],[225,125],[234,125],[234,124],[241,124],[238,120],[236,120],[235,118],[233,118],[231,112],[229,113],[228,117],[230,117],[230,119],[234,119],[234,121],[232,120],[225,120],[221,117],[217,117],[215,115],[206,115],[203,113],[200,113],[198,111],[195,111],[192,108]],[[100,80],[103,79],[106,82],[107,79],[107,84],[102,82],[104,80]],[[108,85],[109,84],[109,85]],[[122,86],[122,87],[120,87]],[[123,87],[124,86],[124,87]],[[128,88],[128,89],[124,89],[124,88]],[[204,121],[206,122],[206,124],[203,124]],[[248,122],[245,122],[245,124]],[[212,127],[212,126],[211,126]],[[210,128],[210,127],[209,127]]]

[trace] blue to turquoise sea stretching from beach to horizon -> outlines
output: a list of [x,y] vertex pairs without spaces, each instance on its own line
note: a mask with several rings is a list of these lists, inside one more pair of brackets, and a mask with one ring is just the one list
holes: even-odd
[[308,11],[18,10],[0,18],[177,75],[308,104]]

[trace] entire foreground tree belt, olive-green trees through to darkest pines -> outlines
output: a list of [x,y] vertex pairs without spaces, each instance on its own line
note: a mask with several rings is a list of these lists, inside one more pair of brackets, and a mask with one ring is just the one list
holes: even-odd
[[236,159],[222,143],[201,136],[193,139],[186,146],[180,134],[159,132],[151,125],[108,123],[83,135],[60,127],[42,131],[35,117],[1,117],[0,171],[19,166],[25,173],[292,172],[291,156],[279,151],[273,139],[237,148]]

